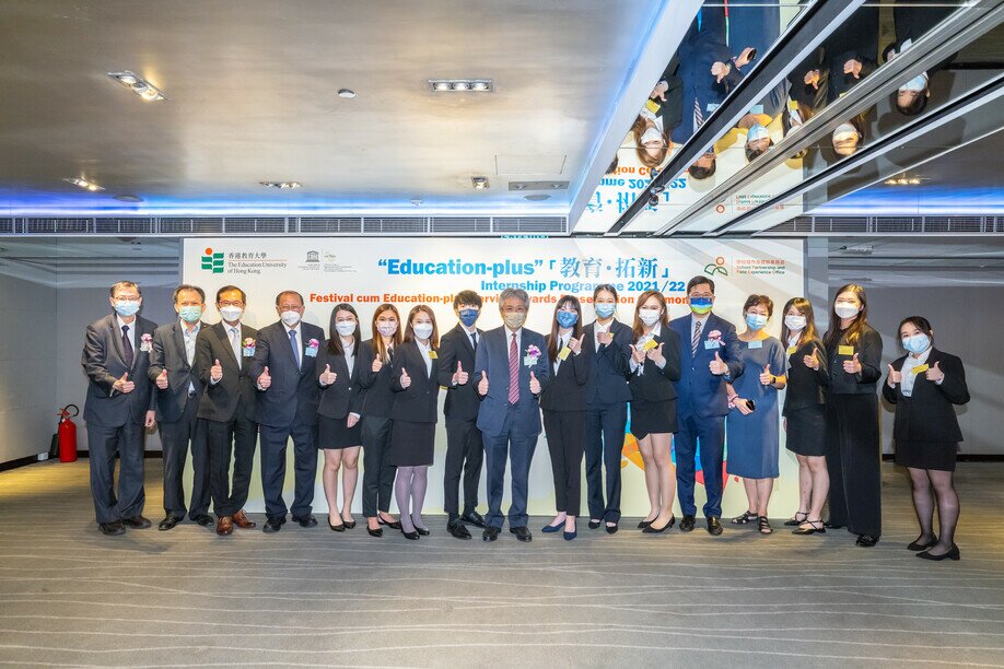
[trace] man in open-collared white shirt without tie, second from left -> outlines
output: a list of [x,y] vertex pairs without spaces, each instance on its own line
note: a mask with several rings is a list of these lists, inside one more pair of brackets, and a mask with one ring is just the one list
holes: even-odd
[[196,366],[196,339],[202,329],[206,293],[183,284],[174,291],[178,320],[153,332],[153,351],[147,375],[156,387],[156,421],[164,448],[164,519],[159,530],[170,530],[185,518],[182,477],[191,448],[191,500],[188,517],[202,527],[214,525],[209,515],[209,453],[199,427],[202,379]]

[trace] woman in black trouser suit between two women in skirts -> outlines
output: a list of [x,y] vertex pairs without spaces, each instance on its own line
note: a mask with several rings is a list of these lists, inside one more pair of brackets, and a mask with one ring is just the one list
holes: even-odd
[[363,389],[359,399],[360,424],[363,443],[363,515],[371,537],[383,537],[381,527],[400,529],[400,523],[390,515],[390,495],[394,492],[395,469],[390,463],[390,411],[394,391],[390,389],[390,365],[401,343],[401,317],[393,304],[382,304],[373,312],[370,329],[373,338],[360,348],[362,373],[359,385]]

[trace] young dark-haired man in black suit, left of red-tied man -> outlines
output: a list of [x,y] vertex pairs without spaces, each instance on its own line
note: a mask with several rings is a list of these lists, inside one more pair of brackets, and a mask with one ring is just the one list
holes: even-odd
[[[446,530],[457,539],[470,539],[464,523],[485,527],[478,513],[478,484],[485,448],[478,430],[477,384],[459,384],[457,375],[472,372],[475,352],[482,332],[475,325],[481,313],[481,296],[474,291],[460,291],[453,298],[453,310],[459,322],[440,339],[439,382],[446,388],[446,471],[444,506],[448,518]],[[459,488],[464,478],[464,514],[460,515]]]

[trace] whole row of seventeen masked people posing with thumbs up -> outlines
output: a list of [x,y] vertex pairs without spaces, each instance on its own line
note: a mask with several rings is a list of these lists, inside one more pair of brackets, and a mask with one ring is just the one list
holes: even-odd
[[[495,541],[507,518],[516,539],[532,540],[527,479],[541,429],[557,505],[541,531],[561,532],[565,540],[577,536],[585,459],[588,527],[617,532],[630,415],[650,500],[638,524],[642,531],[661,533],[676,524],[677,495],[680,531],[696,528],[699,463],[710,535],[723,531],[726,473],[743,479],[748,501],[729,524],[773,532],[768,505],[783,424],[799,470],[799,506],[785,525],[796,535],[847,527],[857,545],[873,547],[882,535],[882,384],[896,406],[896,459],[910,472],[920,521],[909,548],[921,558],[957,560],[959,504],[952,472],[961,433],[953,404],[969,395],[961,362],[933,347],[927,320],[903,319],[898,334],[907,355],[888,365],[883,383],[882,339],[867,322],[861,286],[838,290],[821,338],[812,304],[790,300],[780,340],[766,331],[774,316],[770,297],[746,300],[738,332],[714,313],[714,287],[708,277],[691,279],[690,313],[673,320],[662,293],[644,292],[631,325],[617,319],[612,285],[595,289],[588,325],[580,300],[562,295],[546,334],[524,327],[530,306],[525,291],[499,295],[503,325],[487,331],[477,327],[481,296],[460,291],[453,303],[457,324],[442,337],[429,306],[415,306],[401,318],[393,304],[382,304],[370,324],[372,337],[363,340],[351,304],[332,308],[325,338],[322,328],[303,321],[304,302],[295,291],[279,293],[278,321],[255,330],[242,321],[247,296],[234,285],[217,292],[220,322],[202,322],[205,293],[186,284],[174,293],[178,319],[157,327],[138,315],[139,286],[116,283],[113,313],[87,327],[82,359],[90,378],[84,419],[98,526],[120,535],[151,525],[142,515],[142,437],[156,423],[164,451],[161,530],[173,529],[186,513],[221,536],[235,526],[255,527],[244,505],[260,442],[266,532],[280,531],[290,513],[301,527],[317,525],[312,505],[318,449],[328,527],[354,528],[362,449],[367,532],[381,537],[387,528],[417,540],[429,535],[422,507],[439,394],[445,391],[446,529],[457,539],[470,539],[471,525],[482,529],[485,541]],[[295,484],[288,507],[282,488],[290,441]],[[189,453],[194,486],[186,506],[182,473]],[[485,516],[477,510],[482,459]],[[503,514],[506,466],[512,503]],[[390,514],[392,495],[398,518]]]

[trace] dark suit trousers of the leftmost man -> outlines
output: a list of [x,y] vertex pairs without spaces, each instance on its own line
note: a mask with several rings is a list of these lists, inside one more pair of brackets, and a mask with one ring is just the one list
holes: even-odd
[[[98,523],[113,523],[143,513],[143,424],[119,426],[87,423],[91,495]],[[115,456],[119,458],[115,494]]]

